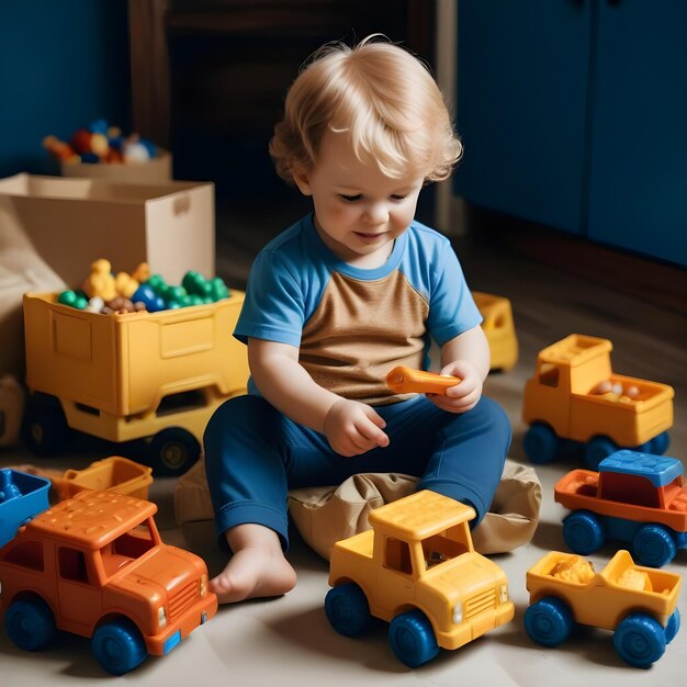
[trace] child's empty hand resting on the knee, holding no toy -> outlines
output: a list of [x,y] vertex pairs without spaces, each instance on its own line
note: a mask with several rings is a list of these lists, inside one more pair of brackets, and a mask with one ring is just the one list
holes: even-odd
[[324,432],[337,453],[350,458],[378,446],[388,446],[388,437],[382,431],[385,425],[369,405],[342,398],[329,408]]

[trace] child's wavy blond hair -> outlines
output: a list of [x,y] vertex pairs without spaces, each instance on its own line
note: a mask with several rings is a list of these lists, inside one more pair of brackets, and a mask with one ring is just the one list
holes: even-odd
[[327,44],[302,68],[270,142],[279,176],[312,170],[327,132],[348,135],[361,162],[396,179],[447,179],[463,150],[429,69],[379,34]]

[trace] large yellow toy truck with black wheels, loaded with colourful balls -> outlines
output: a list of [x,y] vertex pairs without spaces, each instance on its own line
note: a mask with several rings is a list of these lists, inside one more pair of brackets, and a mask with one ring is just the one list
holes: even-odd
[[156,474],[185,472],[215,408],[246,388],[246,350],[232,336],[243,301],[233,291],[206,305],[104,315],[26,294],[25,443],[49,454],[69,429],[145,438]]

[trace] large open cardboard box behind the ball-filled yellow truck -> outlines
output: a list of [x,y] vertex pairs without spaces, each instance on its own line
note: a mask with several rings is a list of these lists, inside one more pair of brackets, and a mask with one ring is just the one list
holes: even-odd
[[146,261],[170,284],[181,283],[188,270],[215,274],[212,183],[143,185],[22,173],[0,180],[3,209],[70,288],[83,283],[99,258],[115,272]]

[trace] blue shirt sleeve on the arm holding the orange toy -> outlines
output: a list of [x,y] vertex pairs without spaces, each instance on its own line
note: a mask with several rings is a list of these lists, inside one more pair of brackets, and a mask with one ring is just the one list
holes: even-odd
[[468,288],[458,257],[448,241],[436,258],[432,264],[433,283],[427,327],[441,347],[481,324],[482,315]]

